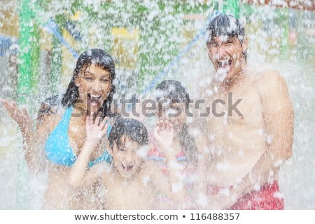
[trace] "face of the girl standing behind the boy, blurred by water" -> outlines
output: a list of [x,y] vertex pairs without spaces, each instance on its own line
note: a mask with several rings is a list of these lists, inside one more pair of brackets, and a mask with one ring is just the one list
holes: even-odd
[[184,103],[162,99],[158,102],[157,114],[160,120],[169,121],[177,134],[186,123],[186,105]]

